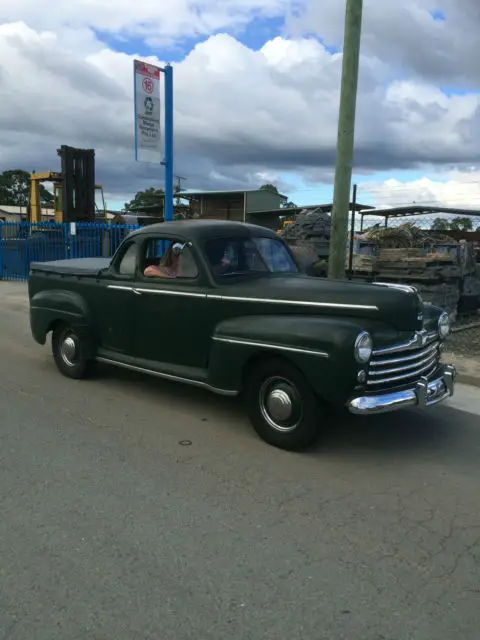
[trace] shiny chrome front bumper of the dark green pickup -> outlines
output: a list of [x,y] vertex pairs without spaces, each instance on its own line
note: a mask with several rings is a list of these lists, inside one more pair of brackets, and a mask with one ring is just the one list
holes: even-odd
[[358,396],[347,403],[350,413],[375,415],[406,407],[426,409],[453,396],[457,371],[453,365],[443,365],[431,379],[422,378],[411,389],[375,396]]

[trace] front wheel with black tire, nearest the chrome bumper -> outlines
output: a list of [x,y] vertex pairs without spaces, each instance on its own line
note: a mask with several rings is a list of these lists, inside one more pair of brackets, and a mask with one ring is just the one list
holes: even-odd
[[[301,451],[319,437],[322,411],[318,398],[288,361],[272,358],[254,365],[246,375],[245,402],[253,428],[274,447]],[[291,413],[286,416],[289,404]]]

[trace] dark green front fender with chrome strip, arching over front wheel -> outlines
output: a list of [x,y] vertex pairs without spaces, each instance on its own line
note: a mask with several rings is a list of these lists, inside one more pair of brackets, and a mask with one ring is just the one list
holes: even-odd
[[253,358],[281,356],[302,371],[325,400],[343,402],[356,386],[354,344],[362,326],[336,317],[242,316],[219,323],[209,361],[209,383],[240,391]]

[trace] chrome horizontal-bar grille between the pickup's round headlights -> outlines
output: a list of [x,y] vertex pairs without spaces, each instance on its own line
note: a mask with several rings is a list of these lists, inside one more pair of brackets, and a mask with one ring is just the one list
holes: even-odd
[[440,342],[438,336],[424,336],[401,345],[373,352],[367,372],[367,386],[371,389],[379,387],[399,386],[428,377],[440,362]]

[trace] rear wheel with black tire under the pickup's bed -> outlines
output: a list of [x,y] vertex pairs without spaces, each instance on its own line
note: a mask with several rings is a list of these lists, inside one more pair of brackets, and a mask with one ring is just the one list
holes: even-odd
[[58,370],[67,378],[80,380],[92,371],[93,361],[87,357],[87,345],[78,333],[62,324],[54,328],[52,353]]

